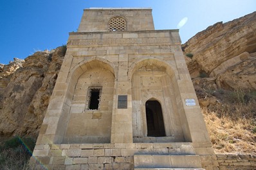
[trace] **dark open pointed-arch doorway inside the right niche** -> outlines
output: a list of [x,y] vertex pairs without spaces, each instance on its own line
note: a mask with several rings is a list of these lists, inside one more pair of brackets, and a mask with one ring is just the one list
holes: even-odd
[[147,136],[165,137],[165,125],[161,105],[156,100],[146,102]]

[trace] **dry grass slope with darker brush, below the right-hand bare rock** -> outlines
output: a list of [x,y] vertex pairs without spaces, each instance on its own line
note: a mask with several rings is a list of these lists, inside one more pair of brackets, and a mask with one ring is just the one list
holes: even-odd
[[208,95],[217,102],[201,106],[216,153],[256,154],[256,100],[248,95],[251,92],[229,91],[221,98]]

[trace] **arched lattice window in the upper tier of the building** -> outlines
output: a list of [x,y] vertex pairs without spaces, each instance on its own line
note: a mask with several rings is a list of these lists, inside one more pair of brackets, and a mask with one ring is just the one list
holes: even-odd
[[126,31],[126,21],[121,17],[114,17],[109,21],[108,31]]

